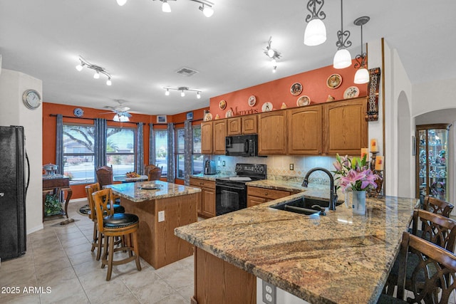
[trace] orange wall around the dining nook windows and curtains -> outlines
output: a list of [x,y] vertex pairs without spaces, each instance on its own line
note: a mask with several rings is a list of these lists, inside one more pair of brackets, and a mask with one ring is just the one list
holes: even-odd
[[[63,122],[76,122],[81,124],[93,124],[93,120],[80,119],[77,117],[73,118],[73,110],[75,108],[81,108],[84,111],[84,118],[107,118],[110,119],[111,116],[105,114],[106,110],[98,110],[93,108],[83,108],[77,107],[74,105],[60,105],[56,103],[43,103],[43,164],[56,163],[56,117],[51,116],[51,114],[62,114]],[[204,110],[209,110],[209,108],[202,108],[194,110],[193,117],[194,120],[201,120],[204,115]],[[176,115],[168,115],[167,122],[183,122],[186,119],[186,113],[180,113]],[[144,123],[144,162],[145,164],[149,163],[149,123],[152,123],[154,128],[162,129],[166,128],[167,124],[157,124],[156,115],[144,115],[144,114],[133,114],[130,117],[129,122],[123,122],[123,125],[128,127],[135,127],[134,123],[131,122],[143,122]],[[194,124],[199,124],[200,122],[194,122]],[[110,122],[108,125],[120,125],[120,122]],[[176,180],[176,184],[183,184],[183,181]],[[86,184],[78,184],[71,186],[73,190],[72,199],[80,199],[86,197],[86,190],[84,189]]]

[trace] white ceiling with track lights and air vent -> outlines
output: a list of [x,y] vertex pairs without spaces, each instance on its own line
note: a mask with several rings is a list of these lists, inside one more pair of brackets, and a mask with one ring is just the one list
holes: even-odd
[[[205,17],[194,1],[171,1],[163,13],[160,1],[0,0],[2,68],[43,80],[43,100],[102,109],[127,100],[132,112],[172,115],[209,105],[209,98],[288,75],[331,65],[340,2],[325,1],[328,39],[304,46],[306,0],[213,0],[214,15]],[[456,1],[343,1],[344,28],[351,31],[354,56],[364,41],[382,37],[398,51],[412,83],[454,78]],[[281,53],[276,73],[264,49]],[[78,56],[113,75],[113,85],[93,71],[78,72]],[[180,68],[197,70],[187,77]],[[163,86],[202,90],[202,98]]]

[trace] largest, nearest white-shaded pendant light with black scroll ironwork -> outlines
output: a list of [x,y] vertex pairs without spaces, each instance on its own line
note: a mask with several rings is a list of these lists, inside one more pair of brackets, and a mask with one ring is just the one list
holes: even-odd
[[[326,41],[326,27],[323,19],[326,14],[323,9],[324,0],[309,0],[307,9],[311,14],[306,16],[306,30],[304,31],[304,44],[306,46],[318,46]],[[317,9],[317,4],[319,5]]]

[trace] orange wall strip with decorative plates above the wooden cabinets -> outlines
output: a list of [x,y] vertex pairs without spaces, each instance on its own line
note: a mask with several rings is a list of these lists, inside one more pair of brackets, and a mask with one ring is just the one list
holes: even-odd
[[[280,110],[282,103],[285,103],[286,108],[296,107],[298,98],[303,95],[309,96],[311,104],[326,103],[328,95],[333,96],[335,100],[343,100],[344,91],[356,85],[353,83],[355,78],[356,69],[353,68],[353,64],[348,68],[336,69],[333,65],[328,65],[323,68],[316,70],[310,70],[308,72],[291,75],[285,78],[272,80],[268,83],[262,83],[260,85],[254,85],[250,88],[244,88],[237,90],[232,93],[227,93],[210,98],[209,109],[214,120],[216,115],[219,118],[224,118],[228,110],[233,110],[234,116],[247,115],[255,112],[261,112],[261,106],[270,102],[273,105],[273,110]],[[326,80],[332,74],[339,74],[342,78],[342,83],[338,88],[328,88]],[[291,95],[290,88],[294,83],[301,83],[302,93],[298,96]],[[356,85],[359,90],[359,96],[367,95],[367,84]],[[247,103],[249,97],[255,95],[257,103],[253,107],[250,107]],[[225,100],[227,106],[224,110],[219,109],[220,100]]]

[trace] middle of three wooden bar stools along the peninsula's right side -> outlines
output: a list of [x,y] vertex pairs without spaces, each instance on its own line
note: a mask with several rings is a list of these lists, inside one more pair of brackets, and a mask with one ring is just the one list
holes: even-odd
[[[422,223],[422,230],[418,230],[418,224]],[[445,248],[447,251],[455,251],[456,242],[456,221],[449,219],[445,216],[434,214],[430,211],[418,209],[413,211],[413,223],[412,223],[412,234],[434,243],[436,246]],[[418,260],[416,256],[410,256],[408,258],[408,272],[406,273],[407,281],[405,288],[410,290],[411,276],[413,269],[417,265]],[[393,295],[395,285],[398,285],[398,275],[400,269],[400,261],[396,259],[393,268],[390,271],[390,275],[385,283],[385,289],[383,290],[388,295]],[[415,278],[415,281],[425,281],[425,278]]]

